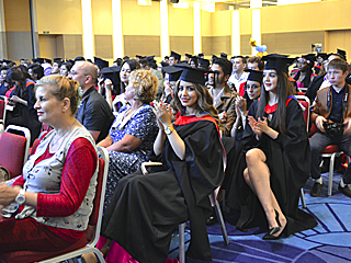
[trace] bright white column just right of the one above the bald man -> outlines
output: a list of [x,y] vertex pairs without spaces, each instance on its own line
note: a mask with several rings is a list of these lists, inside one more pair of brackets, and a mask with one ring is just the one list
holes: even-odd
[[113,57],[124,57],[124,42],[122,30],[122,3],[121,0],[112,0],[112,23],[113,23]]

